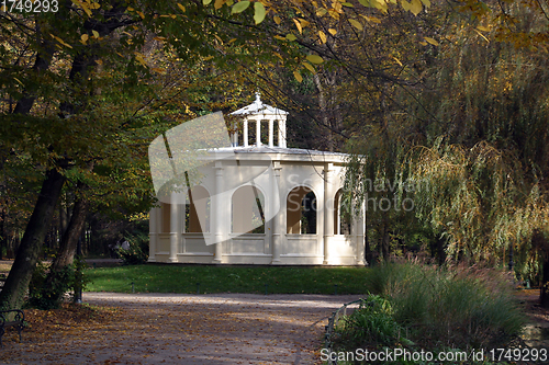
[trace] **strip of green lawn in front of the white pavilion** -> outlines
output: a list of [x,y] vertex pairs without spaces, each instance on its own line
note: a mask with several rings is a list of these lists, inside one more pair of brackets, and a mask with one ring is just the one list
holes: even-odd
[[363,294],[366,267],[134,265],[86,270],[88,292]]

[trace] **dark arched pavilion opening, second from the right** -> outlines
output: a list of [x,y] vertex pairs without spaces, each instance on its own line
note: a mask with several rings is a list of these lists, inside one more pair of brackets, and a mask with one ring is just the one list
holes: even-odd
[[316,235],[316,195],[306,186],[294,187],[288,194],[287,232]]

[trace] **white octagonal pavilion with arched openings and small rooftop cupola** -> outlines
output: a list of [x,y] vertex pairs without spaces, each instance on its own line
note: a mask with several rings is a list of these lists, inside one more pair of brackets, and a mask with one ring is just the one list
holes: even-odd
[[288,113],[259,95],[232,115],[242,136],[225,133],[228,146],[206,149],[197,178],[150,210],[148,261],[363,265],[363,209],[341,214],[347,156],[288,148]]

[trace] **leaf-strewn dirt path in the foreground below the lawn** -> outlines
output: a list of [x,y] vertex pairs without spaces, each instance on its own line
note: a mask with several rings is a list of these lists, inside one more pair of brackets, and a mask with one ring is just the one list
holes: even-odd
[[120,309],[91,324],[53,323],[47,335],[31,328],[23,343],[9,333],[0,362],[310,365],[318,362],[327,317],[357,298],[85,293],[86,303]]

